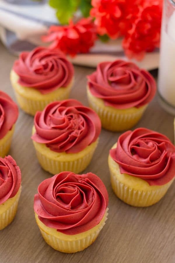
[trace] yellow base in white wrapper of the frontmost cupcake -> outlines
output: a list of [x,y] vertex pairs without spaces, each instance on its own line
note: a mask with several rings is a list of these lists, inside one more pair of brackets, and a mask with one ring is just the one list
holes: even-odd
[[99,232],[105,225],[107,216],[108,208],[106,208],[106,212],[97,226],[80,234],[65,235],[61,232],[58,232],[56,229],[45,226],[38,219],[38,215],[35,213],[36,223],[46,243],[55,250],[64,253],[75,253],[78,251],[82,251],[88,246],[90,246],[96,240],[97,236],[99,235]]

